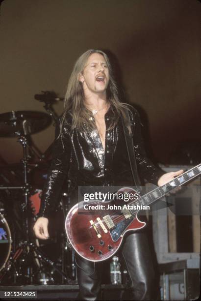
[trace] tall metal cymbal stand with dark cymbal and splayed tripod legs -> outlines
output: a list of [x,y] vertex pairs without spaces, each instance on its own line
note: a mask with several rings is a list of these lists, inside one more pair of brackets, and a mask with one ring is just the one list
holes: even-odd
[[[24,204],[23,204],[23,213],[24,213],[24,240],[21,241],[17,247],[16,252],[11,255],[9,262],[3,263],[2,270],[3,276],[11,270],[13,267],[14,272],[14,279],[19,276],[23,276],[26,278],[27,282],[32,283],[33,275],[32,275],[32,267],[27,263],[28,257],[37,257],[38,261],[41,263],[40,271],[44,272],[43,264],[46,263],[50,265],[55,271],[57,271],[61,276],[62,279],[67,280],[66,274],[61,271],[57,266],[51,261],[43,252],[33,244],[30,240],[30,233],[29,233],[29,218],[28,218],[28,211],[29,211],[29,195],[30,195],[30,182],[28,181],[28,160],[30,156],[28,155],[28,149],[32,150],[30,146],[30,139],[28,139],[29,135],[32,133],[36,133],[50,124],[50,117],[47,116],[45,113],[41,112],[29,112],[29,111],[20,111],[20,112],[9,112],[0,115],[0,137],[18,137],[18,142],[23,147],[23,185],[19,186],[1,186],[0,189],[10,190],[10,189],[19,189],[22,190],[24,194]],[[34,152],[34,151],[33,151]],[[1,221],[4,221],[2,218]],[[3,228],[2,228],[3,229]],[[2,238],[4,238],[4,230],[2,231]],[[4,231],[4,232],[3,232]],[[11,237],[9,235],[9,237]],[[10,238],[11,240],[11,238]],[[9,254],[10,254],[11,242],[9,244]],[[8,261],[9,254],[6,257],[6,262]],[[22,262],[26,265],[25,269],[26,272],[23,271],[21,273],[22,267],[20,269],[17,268],[17,261],[22,258]],[[15,282],[15,280],[14,280]]]

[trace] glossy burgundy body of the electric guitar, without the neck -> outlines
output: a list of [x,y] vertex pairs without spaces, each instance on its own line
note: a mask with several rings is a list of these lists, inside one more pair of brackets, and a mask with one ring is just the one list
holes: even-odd
[[[87,260],[97,262],[110,258],[117,252],[128,231],[139,230],[146,225],[138,220],[137,214],[128,217],[126,211],[123,214],[121,210],[107,210],[108,205],[113,207],[113,201],[90,202],[90,205],[105,206],[104,210],[84,210],[85,204],[80,202],[69,211],[65,226],[71,245]],[[120,204],[127,205],[129,202],[118,201]]]

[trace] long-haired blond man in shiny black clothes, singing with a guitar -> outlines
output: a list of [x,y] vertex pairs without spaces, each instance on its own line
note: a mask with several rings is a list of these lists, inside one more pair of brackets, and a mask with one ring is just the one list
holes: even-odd
[[[129,122],[126,120],[126,110]],[[157,185],[182,173],[165,174],[147,158],[141,123],[135,109],[121,103],[107,55],[88,50],[76,61],[65,97],[64,112],[56,125],[53,159],[43,190],[41,209],[34,225],[35,235],[49,238],[50,209],[58,200],[65,178],[69,194],[75,199],[77,186],[132,186],[122,118],[133,137],[137,172]],[[132,300],[151,300],[154,270],[144,232],[126,236],[122,258],[131,280]],[[100,300],[101,263],[76,254],[80,300]]]

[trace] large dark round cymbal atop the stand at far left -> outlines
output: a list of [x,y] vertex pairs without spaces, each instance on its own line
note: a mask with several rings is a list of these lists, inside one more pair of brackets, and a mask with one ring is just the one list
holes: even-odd
[[11,111],[0,114],[0,137],[35,134],[47,128],[50,115],[38,111]]

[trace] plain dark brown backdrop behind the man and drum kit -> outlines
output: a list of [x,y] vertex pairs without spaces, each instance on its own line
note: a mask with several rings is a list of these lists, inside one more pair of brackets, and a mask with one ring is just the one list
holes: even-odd
[[[106,50],[141,112],[157,162],[201,138],[201,3],[198,0],[4,0],[0,10],[0,113],[44,111],[41,90],[65,94],[75,60]],[[63,103],[54,109],[62,112]],[[53,125],[32,136],[41,151]],[[0,155],[18,162],[15,138]]]

